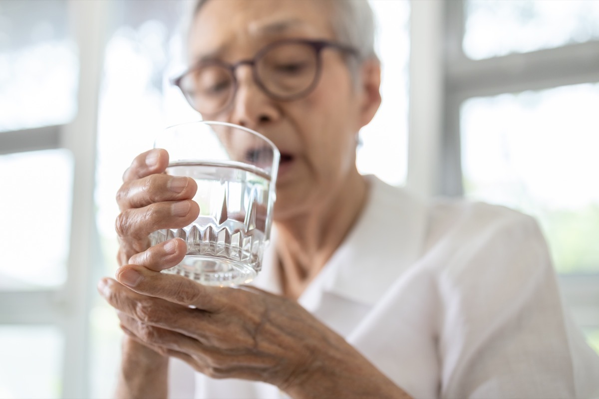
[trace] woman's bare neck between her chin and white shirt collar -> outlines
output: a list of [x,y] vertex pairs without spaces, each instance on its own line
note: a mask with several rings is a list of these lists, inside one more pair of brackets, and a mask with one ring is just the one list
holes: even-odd
[[357,170],[331,187],[316,208],[277,221],[283,294],[297,299],[325,266],[364,207],[367,182]]

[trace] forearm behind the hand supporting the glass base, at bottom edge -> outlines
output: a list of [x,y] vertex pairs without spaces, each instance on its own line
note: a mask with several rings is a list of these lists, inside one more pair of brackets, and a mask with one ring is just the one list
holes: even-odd
[[313,363],[289,382],[286,393],[295,399],[411,398],[351,345],[344,346],[317,352]]

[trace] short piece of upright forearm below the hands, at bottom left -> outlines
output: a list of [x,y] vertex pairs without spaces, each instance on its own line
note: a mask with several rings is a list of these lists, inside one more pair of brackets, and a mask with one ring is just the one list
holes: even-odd
[[129,337],[123,338],[117,399],[166,398],[168,357],[162,356]]

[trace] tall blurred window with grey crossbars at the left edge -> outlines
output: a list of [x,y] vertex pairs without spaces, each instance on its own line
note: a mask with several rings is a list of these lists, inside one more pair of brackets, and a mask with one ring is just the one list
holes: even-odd
[[87,396],[87,299],[97,258],[93,62],[102,53],[103,7],[0,4],[2,397]]

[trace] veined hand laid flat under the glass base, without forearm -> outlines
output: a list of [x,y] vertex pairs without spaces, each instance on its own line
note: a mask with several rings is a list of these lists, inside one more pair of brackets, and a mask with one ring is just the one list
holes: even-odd
[[[156,258],[155,249],[134,260]],[[207,287],[138,265],[121,267],[117,279],[122,284],[104,279],[99,289],[118,310],[125,333],[210,377],[285,389],[335,336],[297,303],[257,288]]]

